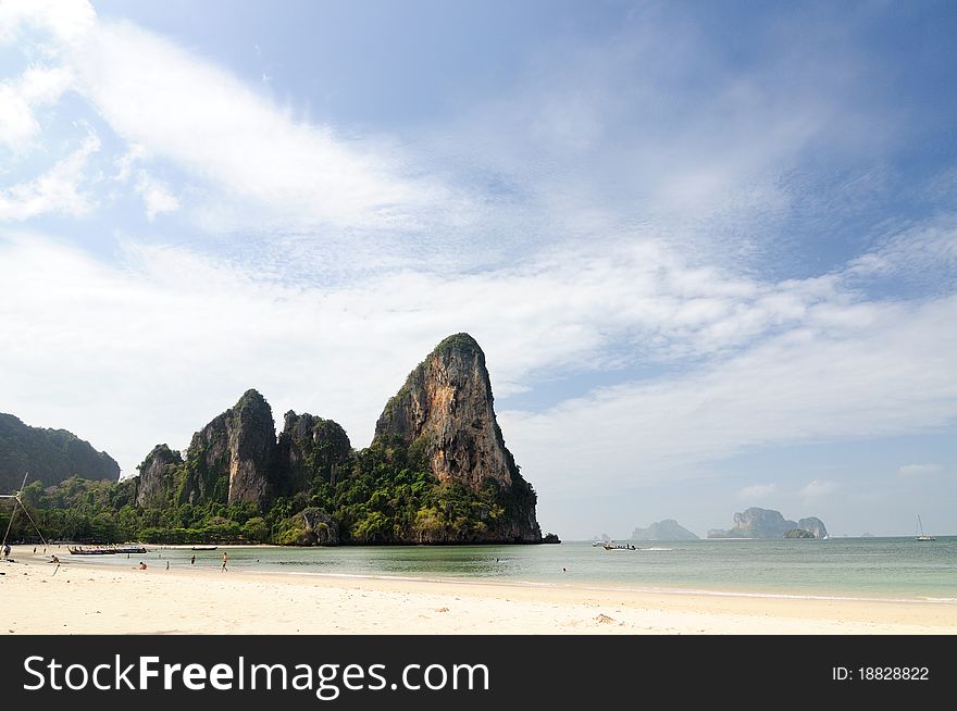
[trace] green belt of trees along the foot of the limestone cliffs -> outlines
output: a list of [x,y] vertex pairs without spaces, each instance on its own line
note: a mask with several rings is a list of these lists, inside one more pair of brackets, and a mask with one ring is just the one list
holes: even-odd
[[[182,482],[187,466],[183,462],[167,474]],[[24,489],[23,501],[51,540],[456,544],[510,541],[506,523],[535,496],[524,481],[524,486],[506,489],[489,478],[478,491],[457,482],[440,483],[421,458],[400,446],[351,452],[340,469],[334,484],[319,475],[304,489],[264,507],[190,503],[172,497],[160,507],[137,507],[138,477],[116,484],[73,477],[52,487],[34,482]],[[9,516],[10,509],[0,511],[4,531]],[[38,540],[22,513],[14,521],[12,538]]]

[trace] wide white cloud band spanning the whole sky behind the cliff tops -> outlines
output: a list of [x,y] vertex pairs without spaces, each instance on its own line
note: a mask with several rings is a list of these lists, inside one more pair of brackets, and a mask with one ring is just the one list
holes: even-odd
[[[18,346],[0,352],[0,373],[16,374],[0,390],[7,407],[34,421],[99,423],[98,446],[115,450],[127,471],[154,440],[185,446],[192,428],[248,387],[276,413],[293,408],[340,421],[363,446],[409,370],[458,330],[483,344],[501,398],[543,371],[641,362],[660,356],[655,348],[724,348],[698,332],[770,309],[754,296],[768,285],[746,288],[712,275],[708,289],[701,278],[643,276],[605,254],[558,273],[530,263],[457,278],[391,274],[330,289],[265,282],[179,249],[125,249],[122,269],[113,270],[36,236],[2,248],[0,326]],[[667,258],[661,252],[660,263]],[[673,269],[680,273],[680,262]],[[705,326],[686,330],[672,323],[682,301],[664,287],[674,284],[694,295],[753,296],[741,309],[705,310]],[[800,285],[787,294],[805,298]],[[598,388],[540,412],[500,411],[499,419],[523,470],[539,490],[552,491],[692,476],[756,446],[954,422],[957,381],[941,354],[957,350],[957,334],[946,327],[957,297],[885,303],[878,312],[841,320],[809,309],[784,332],[745,338],[684,373]],[[655,333],[660,346],[646,347],[643,334]],[[629,334],[639,336],[614,356]],[[103,411],[83,414],[90,408]],[[114,431],[116,412],[126,419],[122,433]],[[556,447],[555,433],[566,433],[567,446]]]

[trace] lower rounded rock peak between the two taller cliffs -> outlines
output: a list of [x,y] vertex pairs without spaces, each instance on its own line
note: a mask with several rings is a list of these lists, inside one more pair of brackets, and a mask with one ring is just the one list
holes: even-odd
[[282,490],[300,491],[316,479],[335,485],[351,452],[349,436],[338,423],[308,412],[297,415],[289,410],[276,445]]

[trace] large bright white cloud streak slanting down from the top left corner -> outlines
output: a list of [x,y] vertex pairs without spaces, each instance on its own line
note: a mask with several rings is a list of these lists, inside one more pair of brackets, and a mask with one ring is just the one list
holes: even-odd
[[[0,85],[0,142],[36,138],[32,107],[70,86],[145,164],[166,161],[202,186],[187,215],[204,229],[425,229],[473,211],[393,139],[297,117],[206,58],[98,18],[89,3],[11,2],[0,13],[0,40],[40,29],[37,57],[55,64]],[[134,185],[148,216],[179,207],[169,187]]]

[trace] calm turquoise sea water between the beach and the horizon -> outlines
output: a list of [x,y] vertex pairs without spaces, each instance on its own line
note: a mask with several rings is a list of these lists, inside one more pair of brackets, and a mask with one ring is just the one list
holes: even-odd
[[[826,540],[635,542],[607,551],[586,541],[543,546],[150,547],[142,556],[61,554],[71,563],[220,569],[275,574],[394,576],[617,589],[863,597],[957,603],[957,536]],[[65,552],[62,551],[62,552]],[[196,563],[190,557],[196,556]]]

